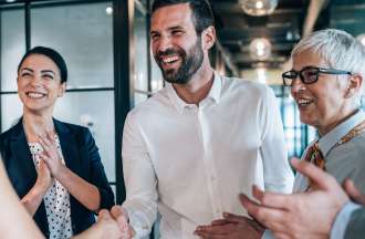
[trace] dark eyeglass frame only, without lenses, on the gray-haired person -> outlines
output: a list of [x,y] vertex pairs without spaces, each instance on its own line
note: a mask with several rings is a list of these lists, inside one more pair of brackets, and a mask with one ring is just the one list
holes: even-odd
[[[305,70],[309,70],[309,69],[316,70],[316,77],[315,77],[314,81],[305,82],[305,80],[304,80],[304,75],[302,74],[302,72],[305,71]],[[288,74],[288,73],[293,73],[293,72],[295,73],[295,76],[294,76],[293,79],[290,79],[292,82],[291,82],[291,84],[289,85],[289,84],[285,83],[285,74]],[[341,75],[341,74],[354,75],[354,73],[351,72],[351,71],[336,70],[336,69],[325,69],[325,67],[317,67],[317,66],[309,65],[309,66],[304,66],[304,67],[303,67],[302,70],[300,70],[300,71],[290,70],[290,71],[286,71],[286,72],[283,72],[283,73],[281,74],[281,77],[282,77],[282,80],[283,80],[283,85],[284,85],[284,86],[290,86],[290,87],[291,87],[292,84],[293,84],[293,82],[294,82],[294,80],[295,80],[298,76],[299,76],[299,79],[301,80],[301,82],[302,82],[303,84],[313,84],[313,83],[315,83],[315,82],[319,81],[320,73],[322,73],[322,74],[335,74],[335,75]],[[289,77],[286,77],[286,79],[289,79]]]

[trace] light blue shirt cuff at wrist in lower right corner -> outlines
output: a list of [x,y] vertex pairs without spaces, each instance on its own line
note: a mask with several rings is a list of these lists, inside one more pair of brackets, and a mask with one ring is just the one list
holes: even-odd
[[348,220],[354,210],[361,206],[352,201],[346,202],[336,215],[334,224],[330,232],[330,239],[343,239],[347,228]]

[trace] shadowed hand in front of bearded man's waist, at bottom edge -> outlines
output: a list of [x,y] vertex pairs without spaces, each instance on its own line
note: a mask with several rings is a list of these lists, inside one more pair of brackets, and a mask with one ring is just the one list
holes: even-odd
[[223,219],[213,220],[211,225],[199,226],[194,232],[209,239],[255,239],[261,238],[263,228],[255,221],[233,214],[223,214]]

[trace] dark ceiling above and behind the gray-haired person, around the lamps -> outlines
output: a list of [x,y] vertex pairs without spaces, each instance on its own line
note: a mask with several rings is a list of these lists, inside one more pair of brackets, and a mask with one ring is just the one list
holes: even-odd
[[321,1],[312,1],[279,0],[272,14],[250,17],[243,12],[239,0],[211,0],[219,41],[236,70],[250,69],[258,63],[249,54],[249,44],[254,38],[268,38],[272,43],[272,56],[261,64],[267,67],[280,66],[302,37],[306,18],[315,22],[314,30],[337,28],[355,37],[365,33],[365,0],[324,1],[319,18],[312,15],[315,10],[307,9],[310,4],[314,4],[315,9]]

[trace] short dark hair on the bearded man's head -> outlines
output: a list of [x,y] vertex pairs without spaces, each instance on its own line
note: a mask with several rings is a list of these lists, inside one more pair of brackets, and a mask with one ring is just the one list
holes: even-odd
[[167,6],[181,3],[189,3],[192,12],[192,22],[198,37],[200,37],[204,30],[210,25],[215,25],[213,14],[209,4],[209,0],[155,0],[152,6],[152,13],[154,13],[157,9]]

